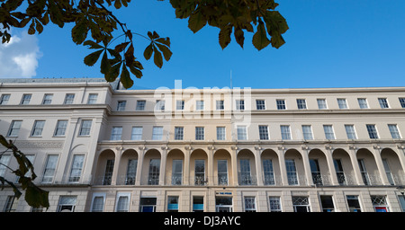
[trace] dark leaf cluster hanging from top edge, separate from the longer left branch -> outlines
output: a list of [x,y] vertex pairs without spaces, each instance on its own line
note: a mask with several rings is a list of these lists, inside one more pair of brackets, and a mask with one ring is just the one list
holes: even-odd
[[232,31],[243,48],[244,31],[254,32],[253,25],[257,25],[257,31],[252,43],[258,50],[268,44],[278,49],[285,43],[282,34],[288,30],[288,25],[275,11],[278,4],[274,0],[170,0],[170,4],[175,8],[177,18],[188,18],[188,27],[193,32],[200,31],[207,23],[220,28],[222,49],[228,46]]

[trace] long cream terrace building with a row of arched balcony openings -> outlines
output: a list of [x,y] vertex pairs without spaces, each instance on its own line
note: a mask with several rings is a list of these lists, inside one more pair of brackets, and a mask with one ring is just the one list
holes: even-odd
[[[49,212],[405,210],[405,87],[175,84],[2,79],[0,133],[28,155]],[[0,163],[17,181],[14,157]],[[0,211],[43,210],[0,190]]]

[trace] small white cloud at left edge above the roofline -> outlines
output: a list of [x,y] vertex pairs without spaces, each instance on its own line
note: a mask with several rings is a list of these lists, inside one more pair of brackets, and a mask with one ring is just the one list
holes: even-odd
[[22,78],[36,75],[41,57],[38,39],[23,31],[13,35],[9,43],[0,44],[0,78]]

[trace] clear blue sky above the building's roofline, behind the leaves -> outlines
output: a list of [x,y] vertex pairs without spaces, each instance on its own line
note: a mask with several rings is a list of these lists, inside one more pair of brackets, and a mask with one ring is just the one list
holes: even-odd
[[[116,13],[117,17],[131,31],[157,31],[162,37],[170,37],[174,53],[159,69],[143,58],[148,41],[136,38],[139,42],[135,52],[145,69],[133,88],[173,88],[175,79],[182,80],[184,88],[222,88],[229,86],[230,72],[234,87],[405,86],[405,1],[276,2],[290,27],[284,33],[286,43],[280,49],[257,51],[251,44],[251,33],[245,33],[244,49],[232,35],[231,43],[222,50],[219,29],[206,26],[193,34],[186,20],[175,19],[168,0],[132,0],[128,8]],[[83,64],[91,50],[73,43],[71,27],[48,26],[33,38],[27,38],[21,30],[13,31],[20,42],[29,40],[29,50],[35,54],[37,62],[31,64],[31,77],[103,77],[97,66]],[[17,42],[14,45],[22,47]],[[0,48],[0,61],[15,52],[11,48]]]

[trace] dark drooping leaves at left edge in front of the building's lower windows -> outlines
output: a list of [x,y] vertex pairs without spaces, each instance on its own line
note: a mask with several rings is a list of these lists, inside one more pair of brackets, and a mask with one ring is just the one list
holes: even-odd
[[[12,170],[13,173],[19,177],[18,183],[21,184],[21,189],[25,190],[24,199],[34,208],[49,208],[49,191],[42,190],[36,186],[33,181],[37,178],[34,173],[33,165],[30,160],[24,155],[16,146],[12,140],[7,142],[7,140],[0,135],[0,144],[6,148],[6,150],[0,155],[4,155],[7,151],[12,151],[14,158],[17,160],[18,169]],[[7,165],[4,165],[8,167]],[[26,174],[31,174],[31,176],[26,176]],[[2,190],[4,189],[5,183],[10,185],[14,190],[14,195],[18,199],[23,195],[23,193],[14,185],[12,181],[7,181],[4,177],[0,176],[0,182],[2,184]]]

